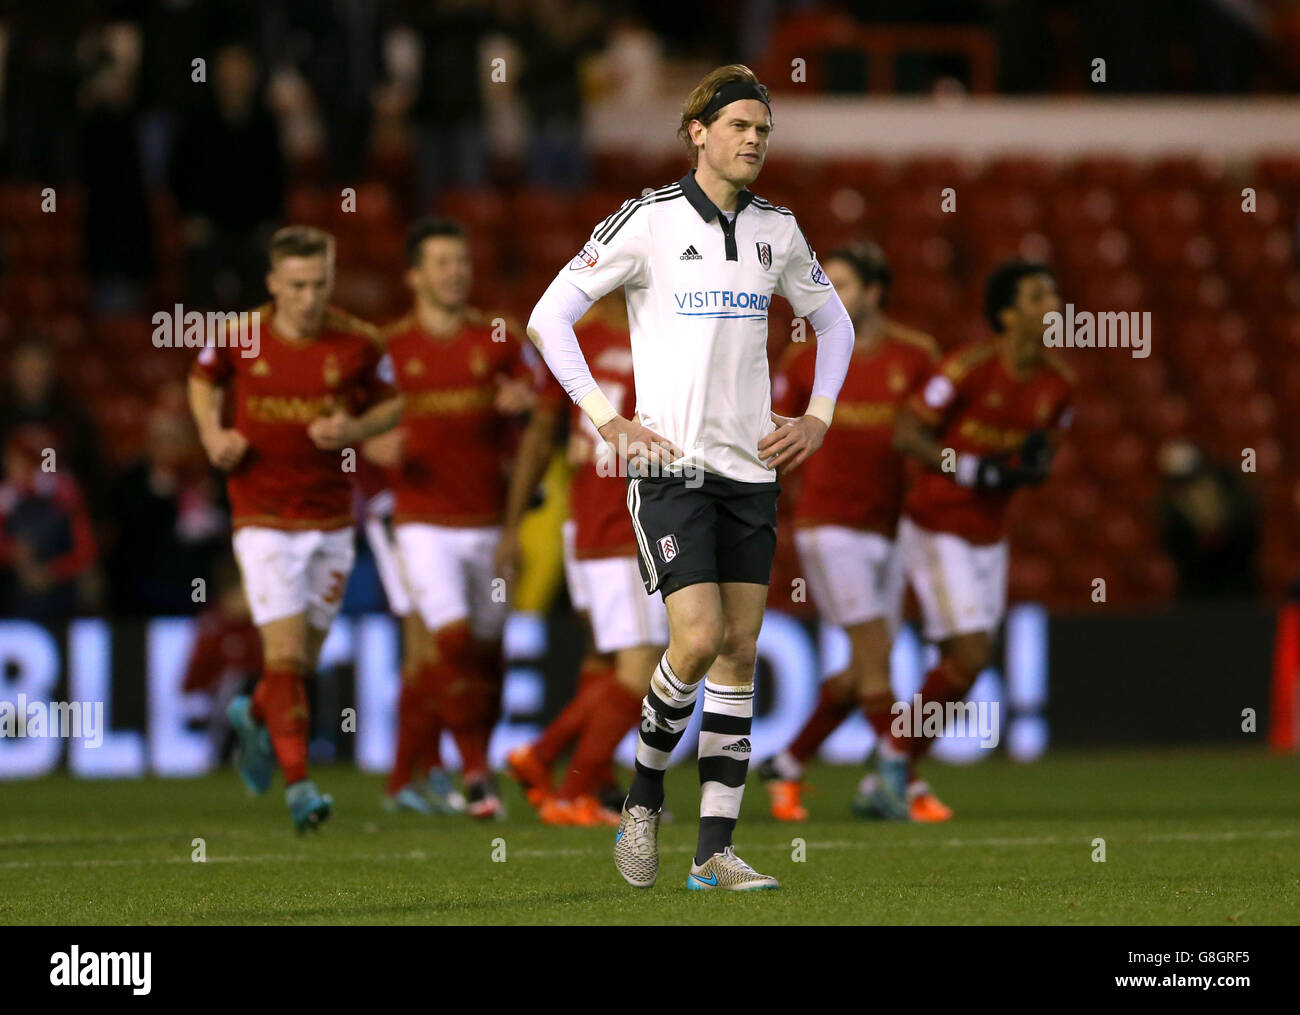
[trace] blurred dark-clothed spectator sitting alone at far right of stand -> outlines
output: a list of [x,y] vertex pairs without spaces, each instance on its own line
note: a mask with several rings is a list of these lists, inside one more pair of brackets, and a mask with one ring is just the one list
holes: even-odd
[[1230,599],[1258,590],[1258,506],[1242,473],[1206,461],[1187,441],[1160,450],[1160,520],[1178,594]]

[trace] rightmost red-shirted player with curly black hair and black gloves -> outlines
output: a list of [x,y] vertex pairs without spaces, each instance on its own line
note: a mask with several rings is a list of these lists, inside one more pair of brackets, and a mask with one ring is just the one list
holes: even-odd
[[[1072,378],[1043,346],[1043,316],[1060,309],[1045,265],[1000,264],[984,289],[993,338],[944,357],[898,413],[894,444],[923,467],[904,499],[898,550],[940,651],[922,708],[962,700],[991,662],[1006,611],[1006,508],[1017,487],[1048,478],[1071,417]],[[910,711],[898,719],[905,736],[892,729],[880,743],[870,799],[893,819],[907,815],[909,759],[930,747],[911,736]]]

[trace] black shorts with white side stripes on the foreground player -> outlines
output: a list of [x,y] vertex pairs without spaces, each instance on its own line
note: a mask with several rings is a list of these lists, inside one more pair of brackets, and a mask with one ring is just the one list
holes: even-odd
[[767,585],[780,491],[775,480],[744,483],[702,469],[689,478],[628,477],[628,513],[646,591],[667,599],[699,582]]

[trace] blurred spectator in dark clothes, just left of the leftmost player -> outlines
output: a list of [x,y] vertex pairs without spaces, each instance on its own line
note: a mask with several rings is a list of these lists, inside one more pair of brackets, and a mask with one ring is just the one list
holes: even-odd
[[[146,455],[126,468],[112,496],[116,533],[108,582],[116,615],[150,617],[203,608],[229,532],[218,498],[188,416],[176,405],[155,409]],[[204,581],[199,602],[196,578]]]

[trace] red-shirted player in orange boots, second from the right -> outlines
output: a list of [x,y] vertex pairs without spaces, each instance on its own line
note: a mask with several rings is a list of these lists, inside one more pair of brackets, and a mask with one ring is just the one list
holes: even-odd
[[[807,817],[800,799],[803,764],[855,707],[862,707],[878,739],[889,736],[889,646],[904,595],[894,546],[904,460],[893,447],[894,416],[939,361],[939,346],[930,335],[884,316],[890,272],[876,244],[835,251],[826,273],[853,318],[857,342],[835,429],[803,473],[794,541],[818,612],[849,637],[849,665],[822,684],[816,708],[790,745],[758,767],[779,821]],[[775,385],[780,412],[807,404],[815,357],[807,344],[790,346]],[[909,781],[907,795],[916,820],[952,816],[919,780]]]

